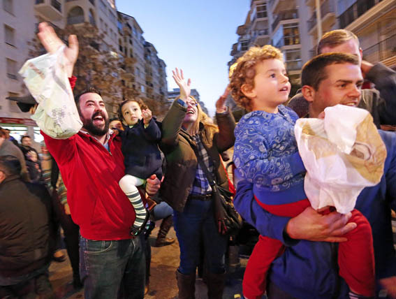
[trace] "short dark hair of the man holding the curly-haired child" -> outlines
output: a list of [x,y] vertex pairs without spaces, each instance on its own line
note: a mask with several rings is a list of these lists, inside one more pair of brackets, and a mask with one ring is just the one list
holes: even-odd
[[321,81],[328,77],[325,67],[332,64],[354,64],[359,66],[359,59],[353,54],[325,53],[307,61],[301,71],[301,85],[308,85],[318,90]]

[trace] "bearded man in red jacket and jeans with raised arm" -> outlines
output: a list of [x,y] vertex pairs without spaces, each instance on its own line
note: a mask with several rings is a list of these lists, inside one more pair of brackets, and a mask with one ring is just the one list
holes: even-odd
[[[54,53],[64,45],[48,24],[41,23],[38,28],[38,38],[47,52]],[[69,77],[77,57],[78,41],[70,36],[64,49]],[[69,80],[73,88],[75,78]],[[124,176],[121,140],[109,130],[108,112],[97,89],[89,87],[75,96],[75,104],[83,124],[78,133],[64,139],[42,134],[64,179],[71,217],[80,226],[80,276],[85,298],[143,298],[145,256],[140,238],[129,234],[135,211],[118,184]],[[74,121],[80,126],[78,119]],[[62,127],[65,132],[75,127],[68,125]],[[147,179],[146,189],[149,194],[158,191],[155,175]]]

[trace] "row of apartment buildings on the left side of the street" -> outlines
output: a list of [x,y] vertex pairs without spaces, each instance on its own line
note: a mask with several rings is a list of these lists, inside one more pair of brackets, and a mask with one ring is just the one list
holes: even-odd
[[[168,99],[166,64],[158,56],[155,57],[156,68],[153,71],[156,78],[152,83],[154,89],[152,94],[147,94],[143,31],[133,17],[117,12],[115,0],[3,0],[0,20],[3,27],[0,30],[0,80],[4,82],[0,86],[0,126],[11,129],[13,136],[29,133],[36,141],[41,140],[30,115],[20,112],[15,102],[6,100],[6,97],[27,95],[17,71],[29,57],[28,42],[36,35],[38,23],[43,21],[62,29],[68,24],[84,26],[88,22],[103,36],[101,45],[98,45],[101,50],[114,49],[113,54],[117,52],[121,61],[124,57],[131,58],[128,66],[124,64],[119,73],[115,73],[125,87],[119,92],[119,101],[122,101],[124,90],[128,89],[137,90],[142,98],[150,95],[154,96],[153,99],[160,100],[160,96],[163,101]],[[106,102],[110,116],[117,112],[119,101]]]

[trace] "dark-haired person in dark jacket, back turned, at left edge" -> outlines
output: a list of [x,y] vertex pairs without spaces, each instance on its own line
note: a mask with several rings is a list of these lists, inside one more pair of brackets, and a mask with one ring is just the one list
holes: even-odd
[[51,197],[42,184],[23,182],[20,169],[15,156],[0,156],[0,298],[54,298]]

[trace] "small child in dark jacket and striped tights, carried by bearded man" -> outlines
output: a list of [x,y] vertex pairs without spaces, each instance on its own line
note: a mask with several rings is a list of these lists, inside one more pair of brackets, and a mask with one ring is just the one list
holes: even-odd
[[128,196],[135,209],[136,219],[131,226],[131,235],[138,235],[147,224],[149,213],[140,197],[138,186],[155,174],[161,180],[162,161],[158,143],[161,140],[161,124],[152,117],[152,111],[140,99],[126,100],[119,105],[122,154],[125,173],[119,187]]

